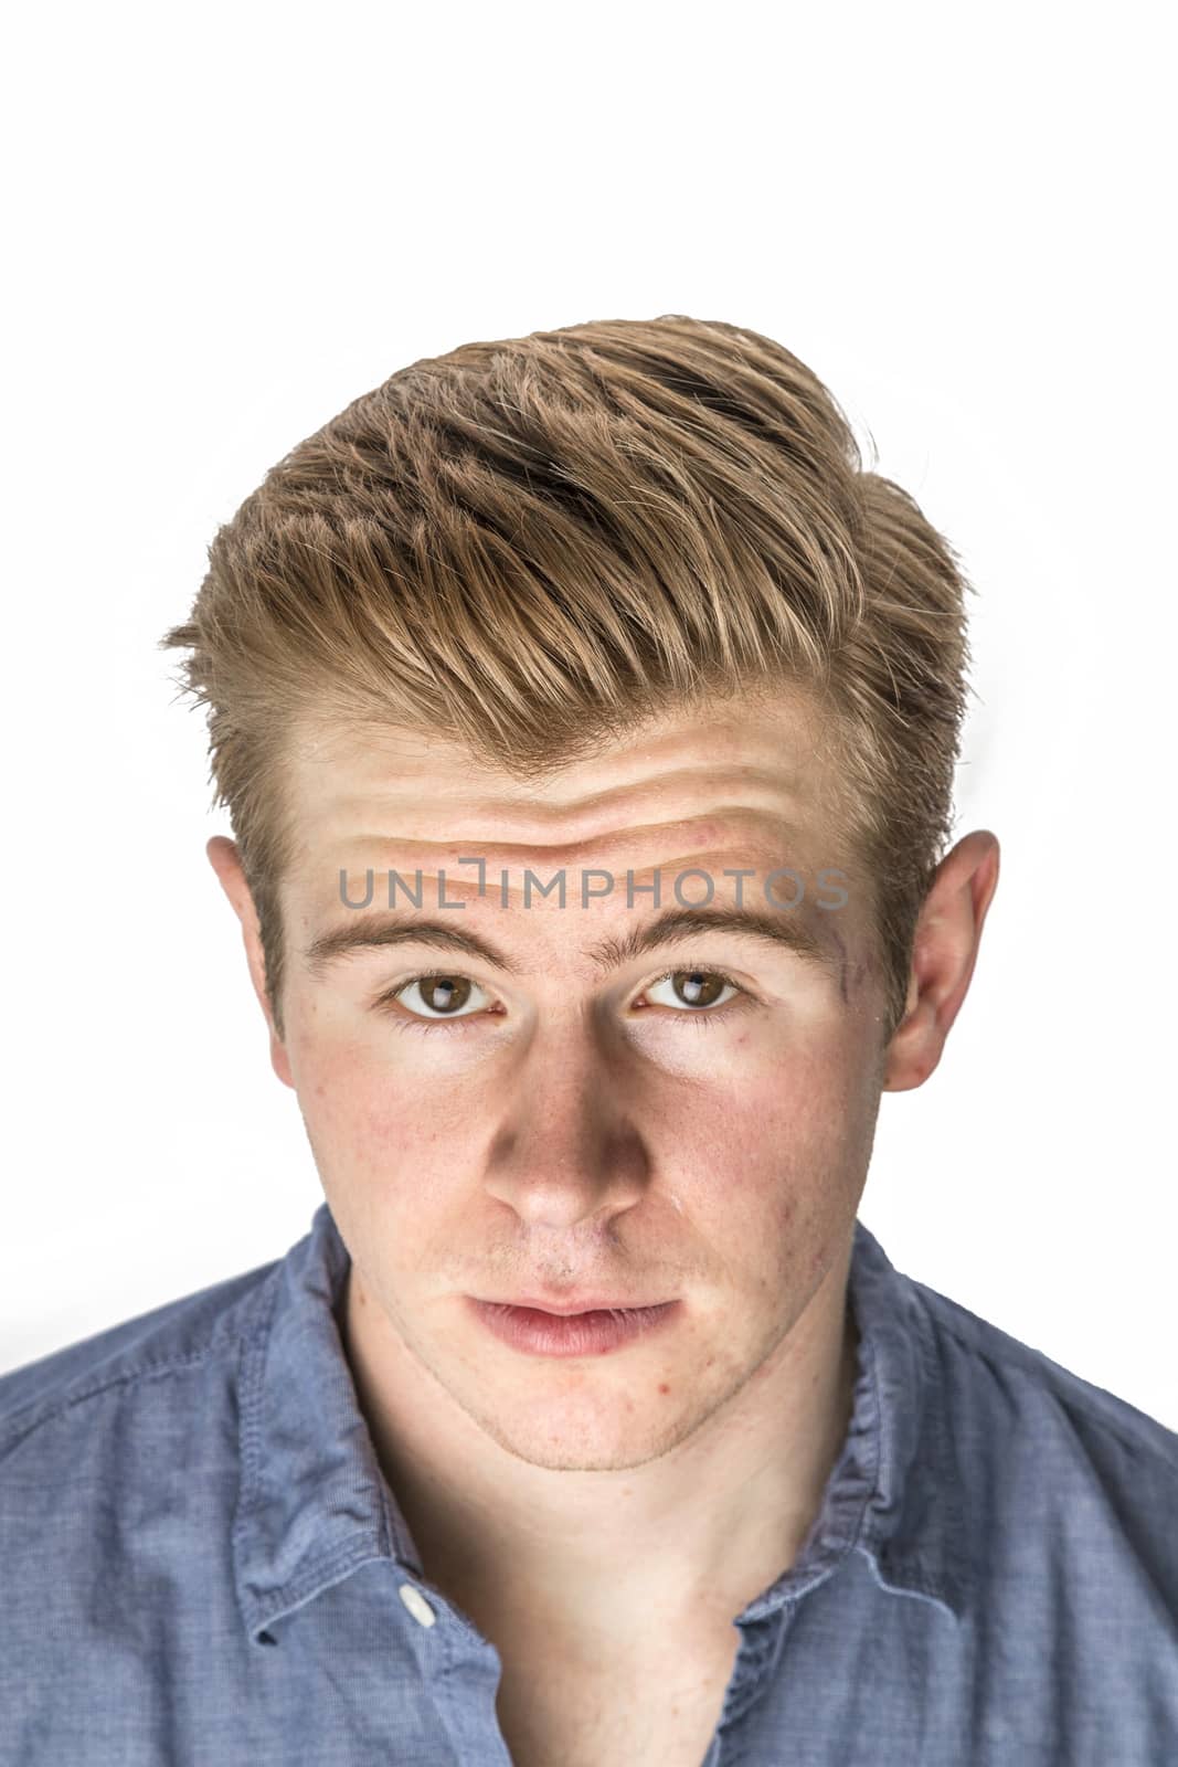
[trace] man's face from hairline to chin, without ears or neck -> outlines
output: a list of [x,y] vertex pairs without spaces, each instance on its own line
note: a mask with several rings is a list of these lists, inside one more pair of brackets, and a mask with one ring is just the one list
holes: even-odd
[[[351,1331],[371,1355],[408,1352],[537,1467],[666,1452],[781,1368],[811,1302],[811,1320],[842,1309],[883,975],[812,726],[784,696],[666,719],[533,788],[408,733],[302,746],[291,767],[304,846],[274,1062],[351,1253]],[[463,859],[484,861],[482,894]],[[798,906],[795,878],[766,894],[781,868]],[[373,871],[367,906],[341,901],[341,869],[351,903]],[[420,871],[420,906],[397,887],[389,910],[390,869],[413,891]],[[539,894],[558,873],[563,906]],[[613,891],[597,896],[600,873]],[[740,892],[818,956],[717,928],[609,961],[708,885],[710,910]],[[844,905],[819,906],[839,885]],[[378,921],[443,922],[512,970],[419,942],[307,958]],[[429,970],[445,981],[415,984]],[[678,1306],[657,1332],[569,1359],[509,1346],[466,1299],[553,1292]]]

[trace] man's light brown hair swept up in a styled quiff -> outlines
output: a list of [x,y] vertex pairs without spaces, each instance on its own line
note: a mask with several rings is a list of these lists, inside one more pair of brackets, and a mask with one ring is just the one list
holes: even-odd
[[600,320],[390,375],[270,468],[161,640],[208,707],[279,1037],[284,762],[307,732],[422,728],[535,781],[652,716],[782,687],[835,762],[890,1037],[950,838],[970,588],[758,332]]

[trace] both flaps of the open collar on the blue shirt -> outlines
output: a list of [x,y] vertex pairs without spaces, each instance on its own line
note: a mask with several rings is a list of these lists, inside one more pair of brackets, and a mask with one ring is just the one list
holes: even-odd
[[[251,1295],[240,1362],[233,1564],[244,1624],[267,1626],[373,1558],[422,1564],[359,1408],[339,1322],[350,1255],[327,1203]],[[860,1550],[885,1590],[961,1615],[963,1505],[922,1301],[862,1221],[848,1276],[858,1325],[851,1422],[795,1564],[738,1624],[765,1619]]]

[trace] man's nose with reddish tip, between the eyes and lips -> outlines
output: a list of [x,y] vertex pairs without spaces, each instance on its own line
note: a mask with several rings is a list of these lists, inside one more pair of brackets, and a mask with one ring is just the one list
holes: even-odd
[[537,1039],[507,1081],[487,1193],[532,1226],[572,1228],[632,1209],[650,1175],[625,1073],[585,1025]]

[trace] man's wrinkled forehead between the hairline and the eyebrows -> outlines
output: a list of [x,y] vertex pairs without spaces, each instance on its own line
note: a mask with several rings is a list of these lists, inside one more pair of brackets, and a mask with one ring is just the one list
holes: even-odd
[[678,871],[703,868],[717,899],[740,889],[726,868],[853,876],[830,811],[830,742],[797,694],[650,719],[528,783],[427,732],[304,730],[290,755],[298,859],[283,892],[304,929],[337,915],[344,873],[348,901],[362,896],[369,868],[410,887],[445,871],[447,896],[461,898],[482,861],[502,908],[526,901],[526,873],[567,875],[572,898],[600,869],[616,882],[609,906],[593,905],[602,915],[625,901],[629,871],[636,885],[659,873],[669,894]]

